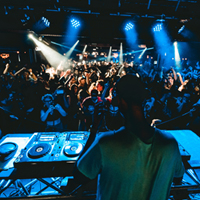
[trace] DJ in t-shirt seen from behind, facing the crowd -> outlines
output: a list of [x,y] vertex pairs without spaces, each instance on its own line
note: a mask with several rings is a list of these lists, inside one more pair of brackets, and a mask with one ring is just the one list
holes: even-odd
[[136,76],[123,76],[116,91],[125,126],[96,136],[99,115],[95,115],[74,178],[98,177],[97,199],[167,200],[173,178],[184,174],[178,144],[145,120],[145,89]]

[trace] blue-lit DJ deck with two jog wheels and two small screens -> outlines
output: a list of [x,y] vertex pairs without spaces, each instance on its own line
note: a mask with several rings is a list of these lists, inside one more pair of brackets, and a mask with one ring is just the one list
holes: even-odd
[[34,133],[14,165],[16,168],[55,167],[61,163],[75,163],[88,137],[87,131]]

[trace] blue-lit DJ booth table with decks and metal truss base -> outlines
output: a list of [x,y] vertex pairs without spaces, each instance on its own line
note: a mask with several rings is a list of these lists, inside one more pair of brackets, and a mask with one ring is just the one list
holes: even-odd
[[[190,130],[167,132],[178,141],[186,168],[181,185],[172,185],[171,194],[180,199],[180,195],[186,197],[190,193],[200,193],[200,138]],[[51,188],[60,198],[73,198],[81,193],[82,199],[94,199],[94,181],[91,185],[83,187],[68,187],[70,180],[73,180],[74,163],[88,137],[87,131],[36,132],[4,136],[0,140],[0,198],[34,198]],[[25,183],[24,179],[30,180]],[[31,187],[38,182],[42,183],[43,187],[33,193]],[[3,196],[10,188],[12,194]],[[84,190],[88,193],[84,193]],[[77,191],[81,192],[77,194]]]

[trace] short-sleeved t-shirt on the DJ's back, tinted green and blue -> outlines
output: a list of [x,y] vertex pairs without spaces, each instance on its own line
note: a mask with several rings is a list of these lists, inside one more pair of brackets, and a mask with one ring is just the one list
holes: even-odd
[[155,130],[150,144],[125,129],[97,138],[78,161],[90,179],[98,176],[97,199],[167,200],[174,177],[184,174],[174,137]]

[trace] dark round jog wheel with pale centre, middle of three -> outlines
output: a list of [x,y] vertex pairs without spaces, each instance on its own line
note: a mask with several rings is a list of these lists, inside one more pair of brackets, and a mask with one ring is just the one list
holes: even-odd
[[47,143],[40,143],[33,146],[29,152],[28,156],[30,158],[41,158],[45,156],[51,150],[51,145]]

